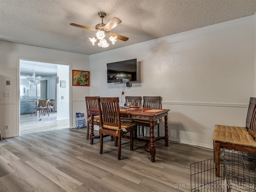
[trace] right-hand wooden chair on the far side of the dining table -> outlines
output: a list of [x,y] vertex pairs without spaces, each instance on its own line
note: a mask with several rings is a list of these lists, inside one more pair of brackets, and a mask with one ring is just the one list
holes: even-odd
[[[143,108],[161,109],[161,96],[143,96]],[[150,127],[150,123],[144,120],[134,120],[136,126],[138,126],[138,132],[140,135],[140,126],[142,126],[142,136],[144,137],[144,127]],[[157,127],[157,136],[160,135],[159,120],[154,121],[154,125]]]

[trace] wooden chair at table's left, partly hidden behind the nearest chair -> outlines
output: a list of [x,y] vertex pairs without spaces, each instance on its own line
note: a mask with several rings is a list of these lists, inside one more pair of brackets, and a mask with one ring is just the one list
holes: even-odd
[[[98,108],[97,98],[98,98],[98,96],[85,97],[86,112],[87,112],[87,133],[86,133],[86,139],[89,139],[89,133],[90,133],[90,129],[89,128],[90,128],[91,115],[90,115],[89,109]],[[100,126],[100,116],[94,116],[93,124]]]

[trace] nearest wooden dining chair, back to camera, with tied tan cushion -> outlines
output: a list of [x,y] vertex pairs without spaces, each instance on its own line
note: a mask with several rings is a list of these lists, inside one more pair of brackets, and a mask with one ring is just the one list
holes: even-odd
[[130,132],[130,150],[133,150],[135,124],[121,122],[118,97],[98,97],[98,107],[100,110],[100,154],[103,152],[103,134],[108,134],[118,140],[118,160],[120,160],[122,135]]

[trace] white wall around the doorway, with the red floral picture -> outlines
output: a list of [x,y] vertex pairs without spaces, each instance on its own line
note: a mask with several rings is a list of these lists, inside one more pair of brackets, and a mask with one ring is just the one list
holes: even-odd
[[[0,41],[0,130],[5,138],[18,136],[19,133],[19,60],[36,60],[54,64],[70,66],[72,69],[89,70],[89,56],[60,50],[40,48],[23,44]],[[11,85],[6,85],[6,80]],[[90,95],[90,87],[72,87],[70,84],[70,110],[76,109],[85,112],[84,96]],[[4,92],[10,92],[11,97],[4,97]],[[9,125],[9,130],[4,130],[4,125]],[[76,127],[75,115],[70,114],[70,127]]]

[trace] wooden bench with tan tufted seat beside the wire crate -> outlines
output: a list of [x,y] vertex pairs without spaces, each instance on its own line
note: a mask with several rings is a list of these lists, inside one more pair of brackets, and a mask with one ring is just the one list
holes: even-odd
[[256,154],[256,98],[250,98],[246,127],[215,125],[212,140],[216,176],[220,175],[220,149],[227,148]]

